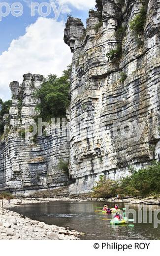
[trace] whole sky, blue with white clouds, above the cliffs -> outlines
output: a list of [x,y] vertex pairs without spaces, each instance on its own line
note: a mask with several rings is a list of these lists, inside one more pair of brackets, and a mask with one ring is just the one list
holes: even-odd
[[[2,4],[3,0],[0,0]],[[95,6],[95,0],[9,0],[23,5],[21,17],[11,13],[0,21],[0,97],[10,98],[9,83],[17,80],[22,82],[24,73],[62,74],[67,64],[71,63],[72,54],[64,44],[64,24],[67,13],[79,17],[86,26],[88,11]],[[41,17],[36,11],[31,17],[31,2],[54,2],[62,10],[57,21],[54,12],[47,17]],[[37,7],[36,7],[37,8]],[[2,12],[6,9],[3,7]],[[46,12],[46,7],[43,7]]]

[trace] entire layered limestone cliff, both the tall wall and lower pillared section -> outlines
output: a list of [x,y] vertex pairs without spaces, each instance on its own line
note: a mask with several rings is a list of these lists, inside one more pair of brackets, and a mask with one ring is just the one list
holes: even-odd
[[[131,22],[145,8],[144,30],[136,33]],[[42,76],[27,74],[21,86],[11,83],[0,190],[56,188],[71,177],[70,192],[83,193],[100,175],[120,179],[129,166],[160,160],[160,0],[103,0],[99,10],[90,10],[87,29],[80,19],[68,18],[64,41],[73,52],[70,141],[65,129],[38,136],[36,143],[24,140],[25,123],[34,123],[37,114],[34,92]],[[69,160],[69,175],[60,160]]]

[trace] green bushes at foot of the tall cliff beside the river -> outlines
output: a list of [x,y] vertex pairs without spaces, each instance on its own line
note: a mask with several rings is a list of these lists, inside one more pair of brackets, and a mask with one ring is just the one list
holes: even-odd
[[100,177],[96,187],[93,189],[94,198],[111,198],[117,194],[121,196],[148,196],[160,193],[160,162],[141,170],[132,168],[131,175],[121,179],[119,182],[106,180]]

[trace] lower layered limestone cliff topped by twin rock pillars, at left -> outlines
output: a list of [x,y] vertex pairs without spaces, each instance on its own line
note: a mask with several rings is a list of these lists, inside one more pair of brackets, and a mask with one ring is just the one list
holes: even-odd
[[[35,92],[43,76],[25,74],[22,85],[10,83],[12,106],[0,139],[0,191],[30,192],[68,185],[69,177],[59,167],[69,160],[67,130],[61,128],[52,136],[28,137],[28,126],[35,124],[39,102]],[[9,124],[8,124],[9,118]],[[26,138],[25,138],[26,136]]]

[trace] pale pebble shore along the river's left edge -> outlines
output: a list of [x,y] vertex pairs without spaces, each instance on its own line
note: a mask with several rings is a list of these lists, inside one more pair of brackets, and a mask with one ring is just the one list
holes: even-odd
[[[19,200],[19,199],[18,199]],[[19,206],[17,199],[11,199],[10,205],[4,199],[3,209],[0,200],[0,240],[80,240],[85,233],[69,230],[69,227],[48,225],[32,220],[7,208]],[[43,203],[49,200],[22,199],[22,205]]]

